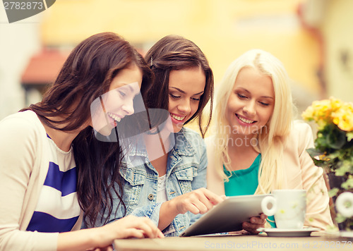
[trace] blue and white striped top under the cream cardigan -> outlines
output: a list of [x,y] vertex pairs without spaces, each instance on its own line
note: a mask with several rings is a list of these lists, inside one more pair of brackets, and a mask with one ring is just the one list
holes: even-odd
[[49,140],[49,169],[44,180],[37,207],[27,231],[71,231],[80,215],[76,185],[77,173],[72,149],[64,152]]

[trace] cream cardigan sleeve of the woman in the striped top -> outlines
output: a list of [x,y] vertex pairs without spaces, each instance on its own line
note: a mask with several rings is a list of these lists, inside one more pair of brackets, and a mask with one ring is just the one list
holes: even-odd
[[[56,250],[58,233],[20,230],[38,163],[35,121],[16,114],[0,122],[0,250]],[[39,168],[39,167],[37,167]],[[26,202],[27,201],[27,202]]]

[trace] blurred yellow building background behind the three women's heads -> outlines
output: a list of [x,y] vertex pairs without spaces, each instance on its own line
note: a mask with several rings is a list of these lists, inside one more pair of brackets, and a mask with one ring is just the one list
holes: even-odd
[[265,49],[287,68],[299,112],[315,99],[353,101],[352,0],[59,0],[11,24],[0,9],[0,119],[40,101],[69,51],[103,31],[142,53],[165,35],[191,39],[216,89],[237,56]]

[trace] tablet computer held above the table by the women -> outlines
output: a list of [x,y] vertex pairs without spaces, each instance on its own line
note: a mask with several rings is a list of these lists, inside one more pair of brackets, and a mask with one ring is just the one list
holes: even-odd
[[180,236],[206,235],[210,233],[225,233],[240,231],[241,224],[253,216],[259,216],[263,211],[261,201],[264,197],[273,195],[241,195],[227,197],[217,204],[198,221],[186,228]]

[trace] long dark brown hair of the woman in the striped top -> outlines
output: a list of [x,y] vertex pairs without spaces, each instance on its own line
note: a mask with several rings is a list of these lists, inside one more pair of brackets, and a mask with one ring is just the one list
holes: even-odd
[[[50,128],[77,130],[90,119],[90,104],[93,100],[107,92],[116,74],[131,64],[143,72],[141,93],[146,93],[152,81],[152,72],[136,49],[112,32],[92,35],[71,51],[42,102],[22,111],[34,111],[42,123]],[[54,116],[63,119],[53,121],[51,118]],[[85,213],[85,222],[89,219],[93,226],[101,210],[112,213],[111,190],[126,208],[121,199],[123,191],[119,176],[121,147],[119,142],[97,140],[90,126],[80,131],[72,146],[78,169],[78,202]]]

